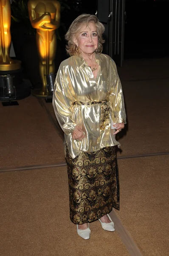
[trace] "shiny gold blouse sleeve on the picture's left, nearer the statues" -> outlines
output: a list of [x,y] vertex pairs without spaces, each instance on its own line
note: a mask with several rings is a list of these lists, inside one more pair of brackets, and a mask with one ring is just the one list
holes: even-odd
[[72,120],[71,102],[64,69],[59,67],[54,84],[53,107],[59,125],[66,135],[69,135],[76,126]]

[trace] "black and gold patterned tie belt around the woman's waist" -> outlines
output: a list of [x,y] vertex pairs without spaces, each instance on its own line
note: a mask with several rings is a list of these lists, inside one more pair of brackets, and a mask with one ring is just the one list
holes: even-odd
[[107,106],[107,103],[108,100],[105,99],[105,100],[102,100],[102,101],[86,101],[86,102],[81,102],[81,101],[76,101],[76,102],[73,102],[73,106],[77,106],[77,105],[95,105],[95,104],[101,104],[101,125],[100,125],[100,130],[101,131],[104,131],[106,126],[109,126],[109,122],[107,119],[110,118],[110,111],[109,111],[109,107]]

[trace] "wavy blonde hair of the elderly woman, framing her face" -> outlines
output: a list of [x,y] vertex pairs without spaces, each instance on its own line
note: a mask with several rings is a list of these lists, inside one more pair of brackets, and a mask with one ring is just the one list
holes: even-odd
[[98,34],[98,47],[96,49],[96,53],[101,53],[104,43],[104,40],[102,38],[102,34],[104,33],[104,26],[101,22],[99,22],[98,18],[95,15],[90,14],[82,14],[79,15],[70,25],[68,32],[65,35],[65,39],[68,41],[68,45],[66,46],[66,51],[70,56],[79,54],[79,51],[77,52],[76,44],[73,42],[73,39],[75,38],[76,33],[81,29],[83,25],[88,26],[91,22],[93,22],[97,29]]

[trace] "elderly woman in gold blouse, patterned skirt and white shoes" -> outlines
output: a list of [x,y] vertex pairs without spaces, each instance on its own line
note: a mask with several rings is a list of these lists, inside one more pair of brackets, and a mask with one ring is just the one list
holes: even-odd
[[115,63],[101,54],[103,32],[94,15],[73,21],[65,36],[70,58],[61,63],[54,86],[54,111],[65,133],[70,220],[83,239],[90,238],[92,221],[114,231],[108,213],[119,209],[115,134],[126,114]]

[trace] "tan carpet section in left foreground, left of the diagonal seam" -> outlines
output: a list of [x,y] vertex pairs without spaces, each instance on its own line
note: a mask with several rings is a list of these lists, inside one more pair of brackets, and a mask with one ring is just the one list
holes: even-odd
[[0,255],[130,256],[116,232],[90,224],[91,239],[69,219],[67,170],[0,173]]

